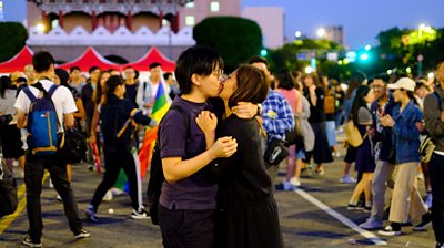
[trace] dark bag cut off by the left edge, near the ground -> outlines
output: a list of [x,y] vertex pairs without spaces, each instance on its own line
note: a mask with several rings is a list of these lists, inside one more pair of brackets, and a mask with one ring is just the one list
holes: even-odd
[[17,182],[8,166],[0,163],[0,218],[16,211],[18,204]]

